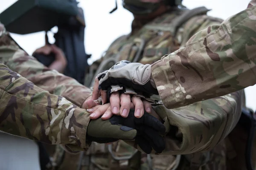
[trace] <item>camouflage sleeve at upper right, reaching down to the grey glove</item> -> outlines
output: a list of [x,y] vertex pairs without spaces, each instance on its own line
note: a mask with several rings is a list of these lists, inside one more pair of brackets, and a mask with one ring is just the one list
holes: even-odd
[[246,10],[199,31],[185,48],[151,65],[152,77],[167,108],[256,84],[255,4],[256,0],[252,0]]

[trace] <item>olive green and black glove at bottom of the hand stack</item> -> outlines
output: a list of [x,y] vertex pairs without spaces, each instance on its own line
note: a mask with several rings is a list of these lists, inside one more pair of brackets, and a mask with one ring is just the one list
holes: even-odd
[[127,118],[114,115],[108,120],[91,120],[87,127],[87,141],[108,143],[119,139],[135,140],[145,153],[151,153],[152,148],[161,153],[165,149],[165,142],[160,136],[163,133],[165,127],[157,118],[145,112],[138,119],[134,116],[134,109],[131,109]]

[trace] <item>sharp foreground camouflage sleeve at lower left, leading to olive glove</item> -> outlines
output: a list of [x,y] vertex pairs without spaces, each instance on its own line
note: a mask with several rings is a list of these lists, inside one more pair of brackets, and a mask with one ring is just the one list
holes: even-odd
[[89,114],[0,63],[0,130],[47,144],[86,149]]

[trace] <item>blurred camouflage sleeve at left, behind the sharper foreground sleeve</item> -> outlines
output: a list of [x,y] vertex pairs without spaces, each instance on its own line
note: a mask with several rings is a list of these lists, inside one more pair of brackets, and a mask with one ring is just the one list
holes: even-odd
[[75,79],[50,70],[37,59],[29,56],[8,33],[0,37],[0,54],[0,61],[10,69],[26,77],[38,87],[51,94],[63,96],[79,107],[91,95],[91,90]]

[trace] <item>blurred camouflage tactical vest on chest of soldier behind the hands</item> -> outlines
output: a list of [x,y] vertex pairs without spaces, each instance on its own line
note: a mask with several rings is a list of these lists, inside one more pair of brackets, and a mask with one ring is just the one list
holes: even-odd
[[205,7],[192,10],[177,8],[157,17],[146,24],[135,34],[128,34],[116,39],[105,52],[105,55],[94,62],[86,74],[84,85],[92,87],[94,78],[103,70],[108,70],[120,60],[152,64],[163,55],[180,48],[177,31],[192,17],[206,14]]

